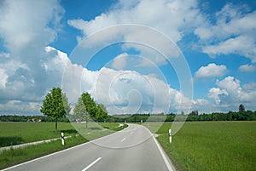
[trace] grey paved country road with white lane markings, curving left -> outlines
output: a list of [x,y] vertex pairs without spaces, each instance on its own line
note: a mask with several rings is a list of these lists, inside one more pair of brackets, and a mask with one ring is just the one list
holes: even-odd
[[160,149],[147,128],[129,124],[128,128],[115,134],[4,170],[174,170],[172,163]]

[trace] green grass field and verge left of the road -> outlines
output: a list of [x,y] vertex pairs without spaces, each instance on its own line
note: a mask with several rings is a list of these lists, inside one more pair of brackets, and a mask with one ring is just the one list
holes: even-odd
[[84,127],[84,123],[58,123],[58,132],[55,133],[55,123],[0,123],[0,147],[60,138],[61,132],[64,132],[65,136],[72,136],[65,140],[65,145],[61,145],[61,140],[55,140],[40,145],[0,151],[0,169],[112,134],[125,127],[126,124],[119,127],[119,123],[88,123],[88,128]]

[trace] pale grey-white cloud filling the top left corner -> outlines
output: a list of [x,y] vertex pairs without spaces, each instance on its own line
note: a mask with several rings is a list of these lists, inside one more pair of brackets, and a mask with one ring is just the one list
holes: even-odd
[[48,26],[49,21],[52,26],[58,25],[59,15],[63,13],[58,1],[31,0],[3,1],[0,11],[0,37],[11,52],[20,51],[35,41],[41,45],[53,41],[56,31]]

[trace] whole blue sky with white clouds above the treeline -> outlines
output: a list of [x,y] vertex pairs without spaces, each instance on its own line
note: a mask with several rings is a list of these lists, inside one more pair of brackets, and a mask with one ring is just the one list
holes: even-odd
[[256,2],[0,1],[0,114],[53,87],[109,114],[256,111]]

